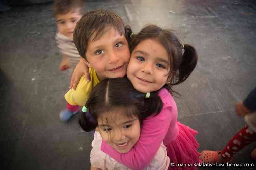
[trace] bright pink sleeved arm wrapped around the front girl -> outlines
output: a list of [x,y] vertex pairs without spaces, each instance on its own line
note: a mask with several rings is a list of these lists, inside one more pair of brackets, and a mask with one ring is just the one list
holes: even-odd
[[150,116],[145,119],[140,138],[129,152],[121,154],[104,141],[101,144],[101,151],[130,169],[141,170],[145,168],[154,158],[165,138],[172,119],[171,111],[171,106],[164,107],[157,116]]

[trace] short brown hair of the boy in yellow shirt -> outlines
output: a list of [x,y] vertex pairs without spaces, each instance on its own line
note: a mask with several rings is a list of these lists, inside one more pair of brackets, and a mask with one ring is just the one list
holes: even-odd
[[94,10],[87,12],[76,23],[73,34],[73,40],[79,55],[86,59],[85,53],[89,41],[99,39],[111,27],[121,35],[125,34],[124,21],[115,12],[108,10]]

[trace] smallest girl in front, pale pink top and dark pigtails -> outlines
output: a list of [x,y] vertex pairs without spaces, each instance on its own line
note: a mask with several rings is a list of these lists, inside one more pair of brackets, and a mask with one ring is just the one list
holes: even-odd
[[[91,169],[128,169],[100,151],[102,140],[119,153],[129,152],[140,137],[143,120],[154,112],[156,114],[153,116],[158,115],[161,106],[162,101],[156,92],[146,96],[136,91],[131,82],[124,78],[105,79],[95,86],[86,107],[97,121],[88,121],[87,112],[81,112],[79,119],[79,124],[85,131],[96,128],[90,154]],[[169,163],[166,147],[161,144],[145,169],[167,170]]]

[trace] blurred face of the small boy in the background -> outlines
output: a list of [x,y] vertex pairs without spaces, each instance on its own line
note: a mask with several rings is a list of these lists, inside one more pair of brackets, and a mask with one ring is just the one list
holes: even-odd
[[75,24],[82,15],[79,12],[79,9],[72,10],[65,14],[57,14],[55,20],[57,22],[58,31],[71,39],[73,39],[73,32],[75,29]]

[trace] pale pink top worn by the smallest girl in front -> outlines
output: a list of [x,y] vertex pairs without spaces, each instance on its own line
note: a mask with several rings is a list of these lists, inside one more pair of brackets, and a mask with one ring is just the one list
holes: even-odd
[[[91,149],[90,162],[91,166],[100,168],[102,170],[130,170],[125,165],[117,162],[109,155],[100,150],[102,138],[99,132],[94,133],[92,142],[93,148]],[[168,170],[170,159],[167,156],[166,147],[163,143],[160,145],[156,155],[143,170]]]

